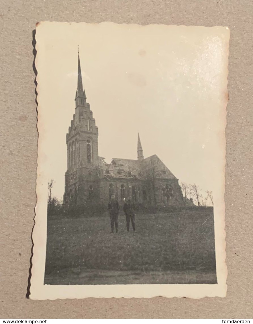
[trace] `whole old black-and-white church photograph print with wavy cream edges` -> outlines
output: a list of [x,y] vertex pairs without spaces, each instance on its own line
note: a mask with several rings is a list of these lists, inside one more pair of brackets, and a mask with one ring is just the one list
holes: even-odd
[[38,24],[31,298],[225,296],[228,42],[226,27]]

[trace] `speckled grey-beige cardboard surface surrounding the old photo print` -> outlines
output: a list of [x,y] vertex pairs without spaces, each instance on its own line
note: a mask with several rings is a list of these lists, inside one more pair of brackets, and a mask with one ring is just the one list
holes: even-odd
[[[1,318],[252,318],[252,1],[2,0]],[[38,21],[228,26],[226,298],[27,299],[36,203],[36,95],[32,30]],[[208,172],[208,170],[207,170]]]

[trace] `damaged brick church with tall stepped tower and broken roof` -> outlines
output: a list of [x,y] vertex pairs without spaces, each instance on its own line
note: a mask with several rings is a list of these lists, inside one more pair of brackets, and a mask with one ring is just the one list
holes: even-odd
[[[137,158],[113,158],[108,164],[98,153],[98,127],[86,101],[78,53],[76,108],[66,134],[67,171],[64,204],[108,204],[112,194],[120,204],[129,196],[140,205],[182,205],[178,179],[158,156],[144,158],[139,134]],[[136,134],[137,135],[137,134]]]

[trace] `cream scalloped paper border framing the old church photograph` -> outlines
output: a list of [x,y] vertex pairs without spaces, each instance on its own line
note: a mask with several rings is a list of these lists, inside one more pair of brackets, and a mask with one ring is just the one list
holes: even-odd
[[[36,28],[36,49],[37,55],[35,58],[36,66],[40,61],[40,55],[44,51],[43,46],[40,46],[41,34],[44,27],[55,27],[55,24],[60,27],[62,24],[75,25],[86,23],[66,23],[66,22],[40,22],[37,23]],[[111,22],[102,22],[100,25],[113,24],[118,28],[157,28],[167,29],[175,25],[136,25],[136,24],[115,24]],[[98,25],[98,24],[96,24]],[[202,27],[202,26],[177,26],[178,28],[225,28],[228,27]],[[229,32],[229,29],[228,29]],[[39,44],[39,45],[38,45]],[[227,42],[227,53],[228,51]],[[228,56],[228,55],[227,55]],[[227,61],[228,65],[228,61]],[[228,75],[228,70],[227,70]],[[45,188],[46,179],[43,178],[43,152],[40,151],[43,134],[43,123],[46,121],[46,116],[43,115],[43,108],[40,106],[40,71],[37,75],[37,101],[38,101],[38,167],[37,167],[37,181],[36,181],[36,194],[37,204],[35,207],[35,226],[32,233],[33,240],[33,256],[31,268],[31,287],[30,299],[38,300],[55,300],[66,298],[152,298],[155,296],[163,297],[188,297],[199,299],[202,297],[225,297],[226,296],[226,278],[227,268],[225,264],[225,203],[224,203],[224,188],[225,188],[225,135],[221,138],[222,148],[224,151],[224,165],[223,165],[223,187],[221,188],[221,199],[219,204],[215,204],[214,208],[214,227],[215,227],[215,250],[216,250],[216,269],[217,269],[217,284],[129,284],[129,285],[44,285],[44,269],[45,269],[45,256],[46,256],[46,228],[47,228],[47,188]],[[224,104],[223,116],[224,130],[226,126],[226,106]],[[222,216],[222,217],[221,217]]]

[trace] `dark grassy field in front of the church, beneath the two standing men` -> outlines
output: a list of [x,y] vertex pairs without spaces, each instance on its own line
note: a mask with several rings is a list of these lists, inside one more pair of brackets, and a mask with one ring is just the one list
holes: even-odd
[[[131,226],[131,224],[130,224]],[[216,283],[211,209],[137,214],[110,234],[109,215],[48,217],[45,284]]]

